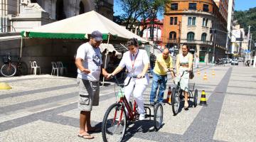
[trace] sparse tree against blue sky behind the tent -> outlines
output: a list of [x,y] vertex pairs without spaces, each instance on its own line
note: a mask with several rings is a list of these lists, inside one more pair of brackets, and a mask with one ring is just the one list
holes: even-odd
[[121,6],[123,13],[115,17],[122,19],[122,25],[131,30],[139,19],[146,21],[147,18],[156,17],[156,13],[164,13],[164,5],[168,2],[170,0],[115,0],[114,3]]

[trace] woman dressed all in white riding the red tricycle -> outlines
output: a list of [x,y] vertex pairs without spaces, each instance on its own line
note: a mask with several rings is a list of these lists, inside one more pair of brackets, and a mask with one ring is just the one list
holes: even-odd
[[138,41],[136,38],[131,38],[127,41],[129,51],[124,53],[121,62],[118,67],[108,77],[117,75],[124,67],[128,70],[127,78],[124,80],[124,84],[127,84],[129,78],[132,77],[129,85],[124,88],[124,95],[129,100],[131,94],[137,102],[139,109],[139,120],[145,118],[144,112],[144,98],[142,96],[144,90],[149,84],[149,75],[146,74],[149,70],[149,57],[146,50],[139,49]]

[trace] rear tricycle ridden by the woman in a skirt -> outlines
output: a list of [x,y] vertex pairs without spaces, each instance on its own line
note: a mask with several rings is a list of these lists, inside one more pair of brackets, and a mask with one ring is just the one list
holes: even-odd
[[[183,71],[181,77],[183,77],[184,72],[188,72],[188,71],[187,70]],[[178,114],[178,111],[180,109],[180,103],[185,98],[183,95],[183,90],[181,89],[181,86],[180,86],[181,77],[179,77],[179,79],[176,82],[176,87],[174,87],[171,92],[171,108],[174,113],[174,116]],[[194,91],[194,88],[195,88],[195,83],[188,83],[188,99],[189,100],[193,99],[193,106],[196,107],[197,101],[198,101],[198,89],[195,89]]]

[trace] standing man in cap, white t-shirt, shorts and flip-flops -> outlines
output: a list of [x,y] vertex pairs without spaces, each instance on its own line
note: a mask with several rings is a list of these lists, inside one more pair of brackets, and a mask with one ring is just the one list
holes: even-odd
[[78,67],[78,109],[80,110],[78,136],[85,139],[94,138],[88,132],[100,130],[90,124],[92,106],[99,105],[100,73],[104,76],[108,75],[104,67],[101,67],[100,43],[102,43],[102,33],[93,31],[89,42],[80,45],[75,58],[75,65]]

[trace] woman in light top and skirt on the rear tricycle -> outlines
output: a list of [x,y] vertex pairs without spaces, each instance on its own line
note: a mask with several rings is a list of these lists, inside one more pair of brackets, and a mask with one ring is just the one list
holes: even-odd
[[[176,61],[176,69],[177,69],[177,77],[182,75],[183,71],[192,70],[193,65],[193,55],[188,53],[189,48],[188,45],[182,45],[182,53],[178,54],[177,61]],[[185,95],[185,103],[184,109],[188,109],[188,80],[189,80],[189,72],[184,72],[183,76],[181,77],[181,89],[183,90],[183,94]]]

